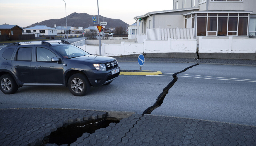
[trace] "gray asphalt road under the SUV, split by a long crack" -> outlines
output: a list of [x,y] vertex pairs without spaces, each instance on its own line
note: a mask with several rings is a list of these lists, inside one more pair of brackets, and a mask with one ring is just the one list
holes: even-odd
[[[135,62],[119,62],[123,70],[138,70]],[[62,86],[23,86],[13,95],[0,92],[0,108],[80,108],[135,111],[152,106],[172,74],[191,63],[145,63],[142,70],[157,76],[120,75],[111,84],[91,87],[88,95],[73,96]],[[161,107],[151,114],[214,120],[256,126],[256,67],[199,64],[182,74]]]

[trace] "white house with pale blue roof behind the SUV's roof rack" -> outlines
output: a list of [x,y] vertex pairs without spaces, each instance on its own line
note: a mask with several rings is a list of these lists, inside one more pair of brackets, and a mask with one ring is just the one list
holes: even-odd
[[57,29],[47,27],[46,25],[36,25],[34,27],[23,29],[23,33],[27,34],[35,34],[38,36],[56,36],[57,35]]

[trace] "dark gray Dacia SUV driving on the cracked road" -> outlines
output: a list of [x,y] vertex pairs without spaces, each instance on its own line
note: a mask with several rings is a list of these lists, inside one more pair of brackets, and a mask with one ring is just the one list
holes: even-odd
[[110,84],[120,73],[115,58],[91,55],[61,42],[18,42],[0,50],[1,91],[15,93],[25,85],[64,85],[75,96],[91,86]]

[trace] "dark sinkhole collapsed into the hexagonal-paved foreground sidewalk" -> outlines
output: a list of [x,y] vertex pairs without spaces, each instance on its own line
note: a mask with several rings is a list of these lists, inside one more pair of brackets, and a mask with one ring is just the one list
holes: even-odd
[[97,129],[108,127],[110,123],[119,123],[119,120],[105,118],[63,125],[63,127],[58,128],[57,131],[51,132],[49,136],[45,137],[43,143],[70,145],[77,141],[77,138],[81,137],[83,133],[94,133]]

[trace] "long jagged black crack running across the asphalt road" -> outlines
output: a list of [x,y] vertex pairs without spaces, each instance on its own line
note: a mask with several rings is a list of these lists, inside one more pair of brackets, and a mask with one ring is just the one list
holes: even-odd
[[180,74],[180,73],[182,73],[182,72],[185,72],[185,71],[187,71],[189,68],[192,68],[192,67],[197,66],[197,65],[199,65],[199,64],[197,63],[197,64],[195,64],[195,65],[192,65],[192,66],[190,66],[190,67],[185,68],[184,70],[182,70],[182,71],[180,71],[180,72],[176,72],[175,74],[173,74],[173,78],[174,78],[174,79],[173,79],[165,88],[163,88],[163,92],[158,96],[157,101],[154,103],[154,105],[151,106],[151,107],[149,107],[149,108],[147,108],[147,109],[142,113],[142,115],[150,114],[154,109],[156,109],[156,108],[158,108],[158,107],[161,106],[161,104],[163,103],[163,100],[164,100],[165,96],[169,93],[169,89],[170,89],[171,87],[173,87],[173,85],[174,85],[175,82],[177,82],[177,80],[178,80],[177,74]]

